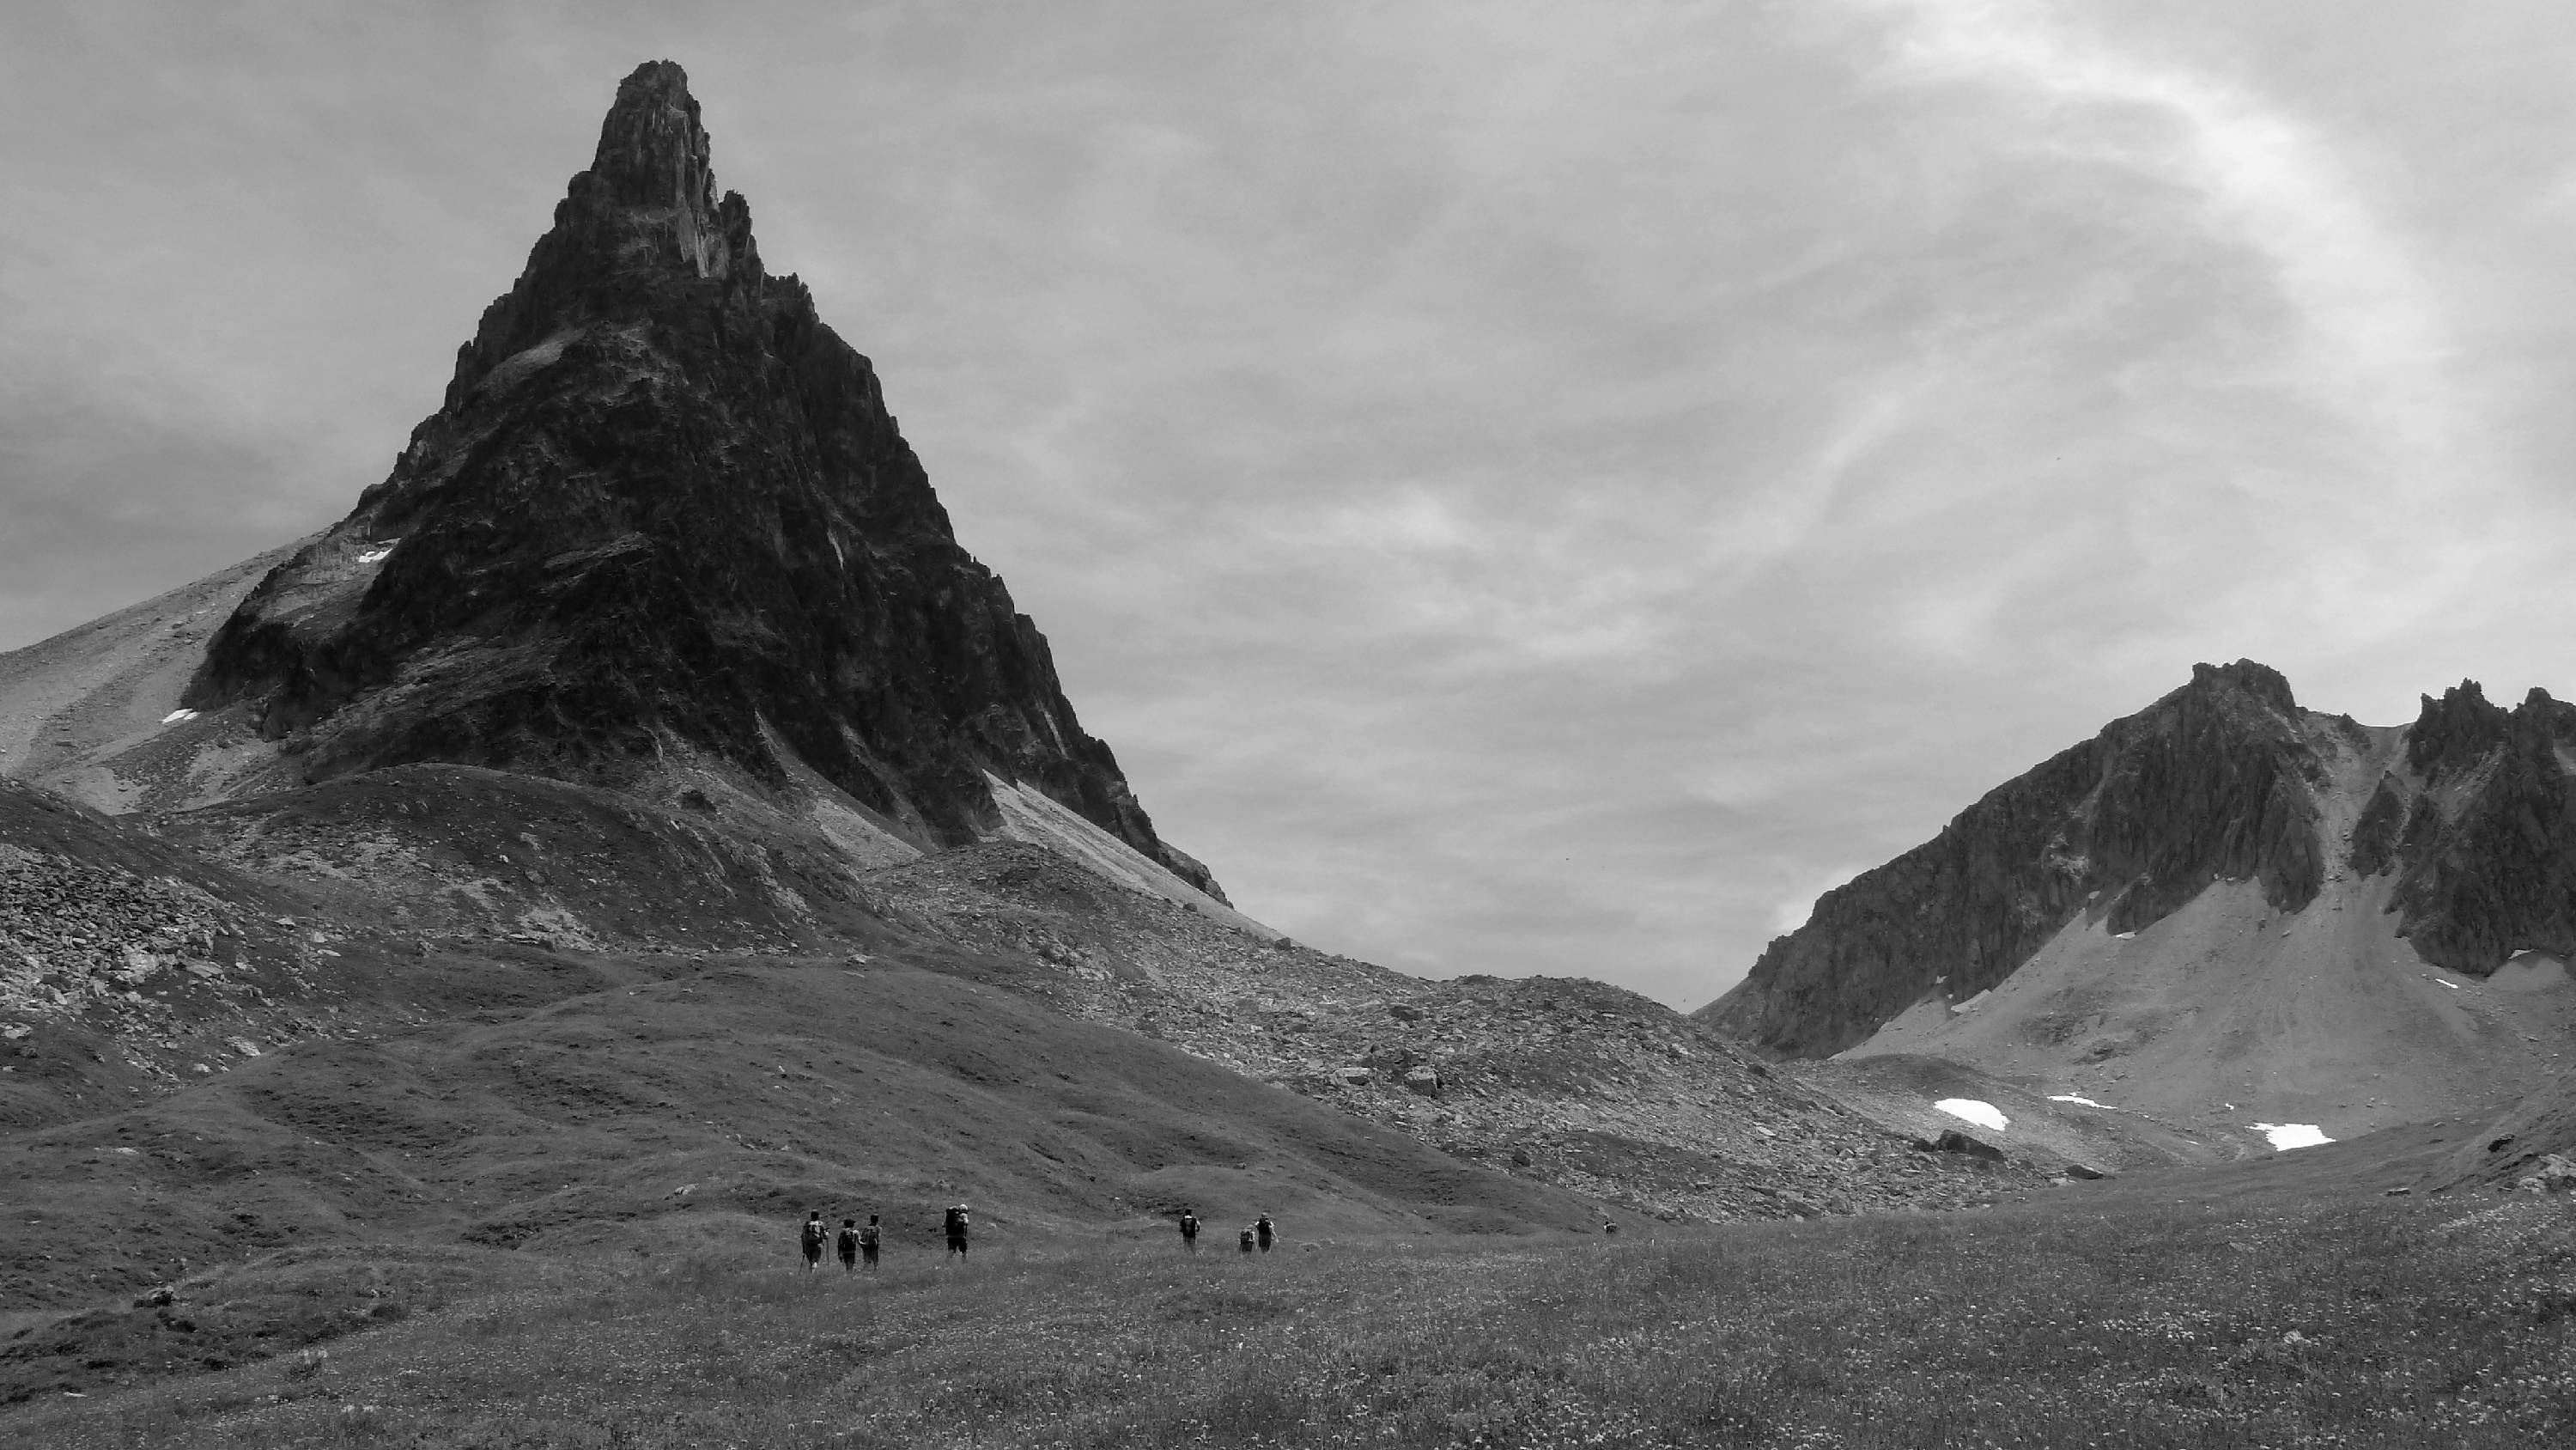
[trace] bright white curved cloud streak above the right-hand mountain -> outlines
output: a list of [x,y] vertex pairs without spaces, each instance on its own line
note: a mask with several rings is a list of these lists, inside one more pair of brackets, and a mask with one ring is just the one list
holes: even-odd
[[[2017,100],[2025,147],[2179,185],[2213,242],[2262,258],[2295,330],[2282,345],[2210,337],[2190,366],[2215,371],[2228,389],[2306,394],[2342,420],[2342,469],[2236,474],[2236,487],[2269,494],[2262,502],[2272,510],[2313,510],[2321,528],[2311,533],[2329,536],[2300,551],[2298,590],[2313,600],[2303,613],[2385,634],[2476,587],[2494,543],[2442,520],[2494,500],[2491,422],[2452,379],[2460,348],[2439,286],[2331,137],[2251,85],[2084,31],[2061,5],[1891,8],[1904,18],[1891,80],[2002,90]],[[2128,386],[2166,394],[2190,384],[2130,371]],[[2197,430],[2208,402],[2195,402],[2187,428]],[[2367,479],[2370,515],[2339,507],[2352,474]],[[2393,577],[2372,567],[2388,556],[2409,569]]]

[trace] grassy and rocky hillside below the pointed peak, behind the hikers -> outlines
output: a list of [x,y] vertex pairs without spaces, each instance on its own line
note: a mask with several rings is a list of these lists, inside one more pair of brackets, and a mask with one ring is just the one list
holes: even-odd
[[[1414,981],[1028,842],[850,873],[778,816],[404,765],[160,819],[0,783],[0,963],[41,968],[0,1012],[0,1401],[361,1332],[518,1254],[783,1254],[806,1208],[912,1249],[969,1198],[1033,1247],[2040,1180],[1633,994]],[[129,1308],[160,1280],[185,1352]]]

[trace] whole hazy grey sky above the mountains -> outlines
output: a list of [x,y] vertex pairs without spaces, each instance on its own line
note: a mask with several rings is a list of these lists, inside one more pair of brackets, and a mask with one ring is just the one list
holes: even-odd
[[618,77],[1159,832],[1677,1007],[2262,659],[2576,695],[2563,0],[0,10],[0,649],[340,518]]

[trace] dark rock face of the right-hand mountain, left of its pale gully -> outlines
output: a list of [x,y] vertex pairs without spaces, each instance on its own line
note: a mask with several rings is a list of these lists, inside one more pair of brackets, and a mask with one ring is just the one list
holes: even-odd
[[2084,909],[2128,932],[2239,876],[2295,912],[2324,878],[2311,737],[2347,726],[2300,711],[2275,670],[2200,664],[2190,685],[1826,891],[1700,1015],[1775,1053],[1829,1056],[1935,984],[1950,997],[1994,986]]

